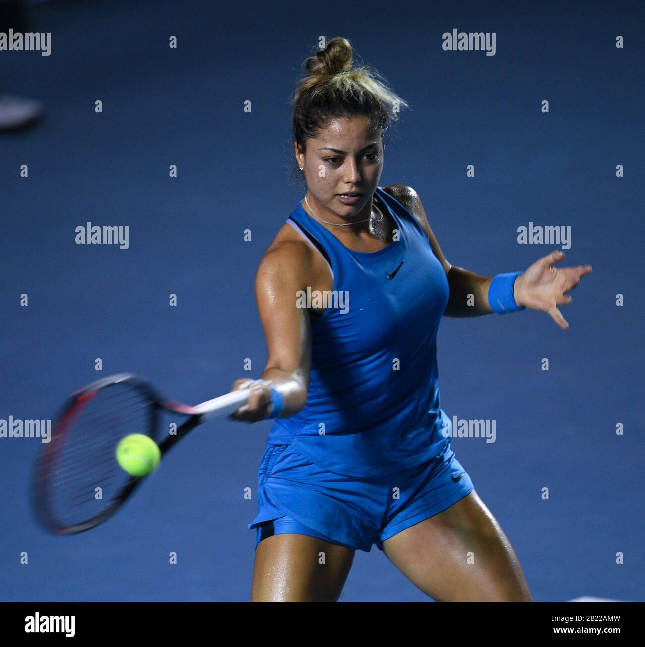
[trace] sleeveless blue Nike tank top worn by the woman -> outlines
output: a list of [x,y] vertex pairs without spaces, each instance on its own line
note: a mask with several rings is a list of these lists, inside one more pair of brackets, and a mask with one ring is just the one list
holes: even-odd
[[448,280],[415,217],[381,187],[375,201],[399,230],[399,239],[377,252],[345,247],[301,204],[287,220],[325,257],[339,298],[311,323],[305,406],[277,418],[268,436],[268,443],[292,443],[315,465],[355,477],[420,465],[450,443],[441,433],[448,417],[436,346]]

